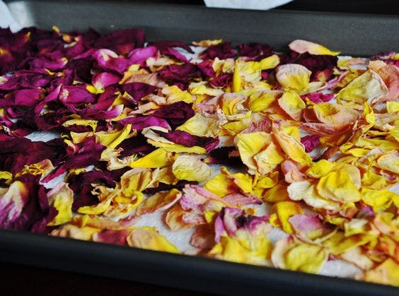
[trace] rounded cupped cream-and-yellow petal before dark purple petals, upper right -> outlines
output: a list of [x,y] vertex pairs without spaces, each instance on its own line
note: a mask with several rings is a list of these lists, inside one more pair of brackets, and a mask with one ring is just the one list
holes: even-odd
[[285,64],[277,67],[276,78],[284,90],[295,90],[297,93],[308,87],[311,71],[299,64]]

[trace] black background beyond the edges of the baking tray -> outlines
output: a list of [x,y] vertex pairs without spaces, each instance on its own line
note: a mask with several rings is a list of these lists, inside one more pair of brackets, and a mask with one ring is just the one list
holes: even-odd
[[[151,2],[154,5],[161,2],[204,5],[202,0],[149,0],[147,2]],[[399,9],[397,2],[397,0],[294,0],[289,4],[279,6],[278,9],[398,15]],[[53,271],[45,268],[19,266],[16,264],[6,264],[1,262],[0,278],[1,295],[210,295],[186,290],[159,287],[156,285],[146,285],[124,280],[100,278],[97,276],[88,276],[64,271]],[[265,293],[267,293],[267,291],[265,291]]]

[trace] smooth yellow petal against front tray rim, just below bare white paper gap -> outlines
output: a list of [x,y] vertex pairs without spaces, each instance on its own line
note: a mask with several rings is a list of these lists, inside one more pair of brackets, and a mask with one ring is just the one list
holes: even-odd
[[179,249],[174,244],[152,228],[142,227],[132,230],[126,240],[130,247],[180,254]]

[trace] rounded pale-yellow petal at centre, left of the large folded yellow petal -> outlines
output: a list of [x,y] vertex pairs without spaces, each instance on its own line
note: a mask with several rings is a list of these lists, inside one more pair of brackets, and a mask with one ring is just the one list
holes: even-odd
[[173,162],[173,174],[180,180],[204,182],[211,177],[212,169],[192,155],[179,155]]

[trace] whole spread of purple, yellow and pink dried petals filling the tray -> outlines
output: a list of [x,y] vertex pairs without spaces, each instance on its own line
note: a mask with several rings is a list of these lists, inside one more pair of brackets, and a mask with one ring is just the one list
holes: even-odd
[[0,227],[399,285],[399,54],[338,54],[0,29]]

